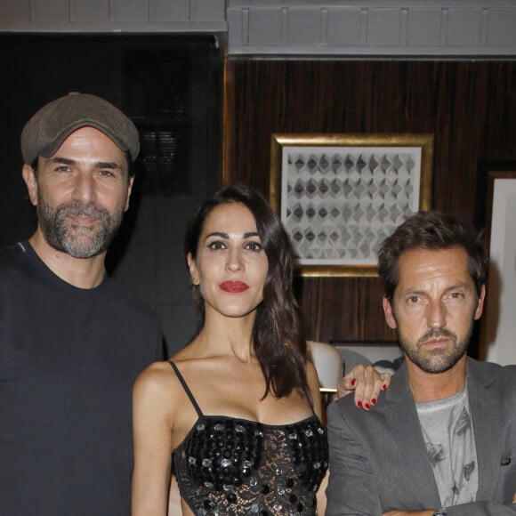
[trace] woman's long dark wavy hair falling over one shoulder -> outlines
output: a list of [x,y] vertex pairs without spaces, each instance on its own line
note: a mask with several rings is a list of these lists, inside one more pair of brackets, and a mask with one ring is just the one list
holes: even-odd
[[[269,203],[254,189],[234,185],[219,190],[198,208],[189,222],[184,240],[185,257],[195,260],[198,242],[208,214],[215,206],[241,203],[254,215],[256,229],[269,260],[263,286],[263,301],[256,310],[253,346],[262,367],[266,389],[277,398],[293,390],[309,398],[306,379],[306,338],[299,305],[292,287],[294,254],[283,224]],[[199,286],[192,285],[192,294],[200,314],[198,333],[205,324],[205,303]]]

